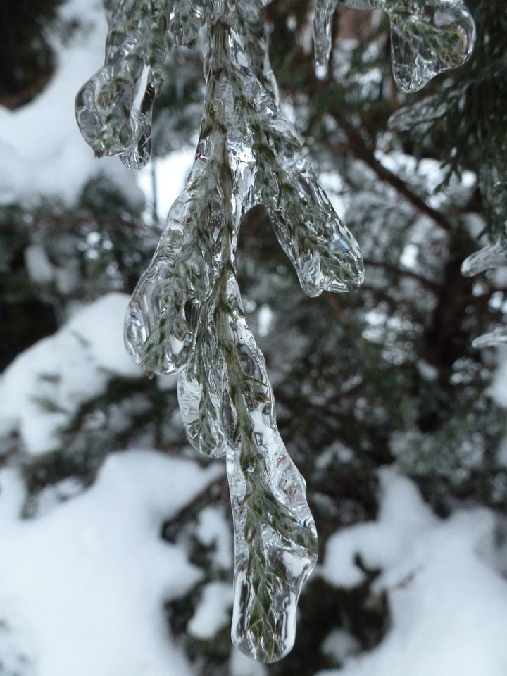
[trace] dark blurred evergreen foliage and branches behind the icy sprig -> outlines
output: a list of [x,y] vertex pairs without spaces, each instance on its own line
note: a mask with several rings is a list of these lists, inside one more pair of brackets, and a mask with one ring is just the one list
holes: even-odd
[[[8,96],[25,87],[29,71],[50,77],[54,56],[44,35],[59,30],[59,4],[31,3],[30,25],[23,23],[22,4],[6,5],[18,56],[4,52],[4,104],[12,106]],[[272,322],[258,342],[273,373],[280,432],[307,480],[322,551],[339,527],[375,518],[377,469],[383,465],[397,465],[413,477],[442,515],[458,504],[506,511],[507,472],[498,459],[506,415],[488,394],[495,351],[471,347],[474,337],[506,320],[505,287],[494,275],[469,279],[459,270],[478,248],[481,231],[494,239],[507,221],[507,199],[499,211],[484,190],[492,166],[507,176],[507,14],[504,0],[468,0],[468,6],[477,23],[475,54],[463,68],[411,95],[396,92],[392,82],[385,16],[339,8],[334,72],[330,68],[320,81],[308,39],[312,3],[274,0],[265,8],[282,100],[296,111],[315,168],[346,204],[346,223],[365,258],[365,284],[358,292],[308,299],[263,209],[253,209],[242,225],[239,281],[249,324],[255,330],[269,308]],[[199,124],[201,84],[198,51],[173,51],[155,110],[156,154],[190,143]],[[25,98],[30,96],[20,96],[15,105]],[[418,111],[413,123],[403,131],[390,129],[391,115],[406,106]],[[442,166],[437,185],[425,173],[427,161],[434,161],[433,170]],[[336,170],[339,182],[332,181]],[[470,172],[478,182],[464,187],[461,177]],[[54,332],[69,303],[110,289],[131,292],[154,249],[156,230],[118,189],[100,180],[84,187],[71,211],[48,202],[1,206],[0,367]],[[58,265],[74,265],[80,284],[65,290],[30,280],[24,252],[32,244]],[[119,405],[132,411],[132,426],[120,436],[108,424]],[[92,481],[104,454],[130,439],[151,439],[166,453],[189,452],[176,406],[174,393],[159,391],[156,381],[111,382],[62,430],[61,449],[37,462],[25,459],[32,507],[44,486],[65,476]],[[100,434],[86,424],[93,411],[106,418]],[[0,462],[23,451],[17,443],[2,442]],[[166,524],[164,537],[189,537],[199,509],[211,503],[226,506],[223,487]],[[208,579],[227,575],[209,570],[208,554],[192,542],[191,556]],[[313,578],[300,606],[301,626],[311,630],[299,633],[294,651],[268,666],[269,674],[309,676],[334,665],[320,645],[337,627],[351,632],[361,649],[380,641],[389,625],[387,603],[370,589],[377,571],[365,572],[366,581],[350,591]],[[198,597],[196,589],[171,603],[168,624],[184,637],[199,673],[225,675],[227,632],[213,641],[185,636]]]

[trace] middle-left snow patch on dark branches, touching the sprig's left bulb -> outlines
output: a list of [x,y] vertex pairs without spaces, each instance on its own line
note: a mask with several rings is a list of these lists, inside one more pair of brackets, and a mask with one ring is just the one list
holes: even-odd
[[21,353],[0,380],[0,435],[18,431],[28,453],[58,447],[58,429],[113,375],[141,377],[123,346],[129,297],[111,293]]

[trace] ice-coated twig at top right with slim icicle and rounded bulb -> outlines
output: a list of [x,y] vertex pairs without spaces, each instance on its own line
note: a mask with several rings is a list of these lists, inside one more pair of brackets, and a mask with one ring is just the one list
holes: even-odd
[[[392,70],[405,92],[417,92],[444,70],[468,60],[475,23],[462,0],[342,0],[355,9],[383,9],[391,24]],[[331,51],[331,22],[337,0],[315,3],[317,75],[325,75]]]

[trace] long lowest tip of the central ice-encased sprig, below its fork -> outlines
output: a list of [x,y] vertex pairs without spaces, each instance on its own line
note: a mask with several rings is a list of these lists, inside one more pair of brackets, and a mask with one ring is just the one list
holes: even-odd
[[216,322],[207,334],[213,349],[201,357],[203,373],[218,361],[218,381],[233,386],[227,401],[215,398],[220,408],[209,416],[225,440],[234,520],[232,641],[251,658],[274,662],[294,644],[297,601],[317,560],[317,534],[303,477],[277,430],[265,361],[233,270],[220,280],[212,304],[201,315],[208,325]]

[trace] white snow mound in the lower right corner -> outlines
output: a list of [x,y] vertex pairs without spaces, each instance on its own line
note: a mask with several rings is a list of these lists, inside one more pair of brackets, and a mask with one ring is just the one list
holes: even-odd
[[415,484],[392,471],[382,476],[377,521],[330,540],[321,570],[349,587],[360,553],[382,567],[377,591],[387,591],[392,627],[370,653],[319,676],[505,676],[507,582],[495,570],[494,516],[485,508],[438,519]]

